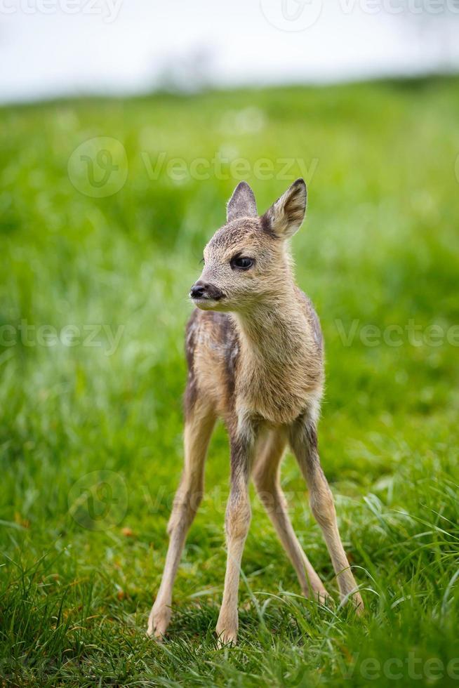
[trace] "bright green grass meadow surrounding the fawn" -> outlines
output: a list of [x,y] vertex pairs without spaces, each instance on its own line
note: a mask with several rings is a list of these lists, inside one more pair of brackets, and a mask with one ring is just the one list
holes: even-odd
[[[5,684],[458,683],[458,121],[457,79],[0,110]],[[72,185],[67,163],[98,136],[124,145],[128,175],[119,192],[93,198]],[[174,180],[164,167],[149,178],[145,160],[154,167],[161,152],[187,164],[220,152],[249,169],[209,163],[207,179]],[[301,159],[287,179],[284,158]],[[260,159],[272,161],[270,178],[254,171]],[[240,642],[216,648],[229,463],[219,428],[171,633],[155,644],[144,631],[182,463],[187,291],[239,178],[262,210],[305,169],[309,209],[293,253],[326,341],[321,458],[368,614],[300,597],[254,496]],[[35,328],[27,338],[22,321]],[[420,345],[405,330],[392,333],[399,346],[368,345],[368,324],[387,335],[410,321]],[[84,345],[101,324],[98,346]],[[426,339],[432,324],[439,345]],[[44,325],[81,336],[69,346],[67,329],[67,343],[46,346]],[[107,355],[107,331],[119,327]],[[283,484],[336,599],[291,456]]]

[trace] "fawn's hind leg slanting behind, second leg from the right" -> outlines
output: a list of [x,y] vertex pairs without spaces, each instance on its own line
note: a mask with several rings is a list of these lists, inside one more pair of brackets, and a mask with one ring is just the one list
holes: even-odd
[[267,436],[262,438],[255,456],[253,481],[267,515],[293,564],[303,595],[324,602],[326,590],[293,531],[286,498],[281,489],[279,468],[286,442],[287,433],[284,429],[270,430]]

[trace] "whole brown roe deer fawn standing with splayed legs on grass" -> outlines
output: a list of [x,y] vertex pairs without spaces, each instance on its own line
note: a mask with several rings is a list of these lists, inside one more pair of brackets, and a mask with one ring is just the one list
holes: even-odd
[[324,385],[319,319],[309,298],[295,286],[288,251],[288,239],[305,216],[306,198],[305,182],[298,179],[258,217],[251,187],[241,182],[228,202],[227,223],[204,249],[204,269],[190,291],[197,308],[186,336],[185,465],[168,523],[168,553],[149,615],[149,635],[161,637],[171,618],[173,582],[201,501],[206,451],[218,416],[227,427],[231,449],[227,568],[216,629],[220,644],[237,640],[239,570],[251,521],[251,475],[295,567],[302,593],[320,601],[326,597],[288,518],[279,482],[286,444],[306,479],[340,597],[352,597],[357,611],[363,609],[317,453]]

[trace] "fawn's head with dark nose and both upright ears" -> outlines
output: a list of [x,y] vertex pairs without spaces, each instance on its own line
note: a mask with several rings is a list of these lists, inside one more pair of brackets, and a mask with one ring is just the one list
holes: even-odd
[[204,249],[204,269],[189,296],[202,310],[244,311],[291,286],[286,239],[300,228],[306,185],[297,179],[261,217],[246,182],[227,204],[227,223]]

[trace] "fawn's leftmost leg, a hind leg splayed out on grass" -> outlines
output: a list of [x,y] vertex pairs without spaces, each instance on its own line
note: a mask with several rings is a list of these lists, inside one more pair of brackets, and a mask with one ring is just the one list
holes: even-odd
[[204,488],[204,463],[215,414],[200,397],[185,421],[185,463],[168,523],[169,547],[163,577],[148,619],[148,635],[161,637],[171,620],[172,588],[187,532],[196,515]]

